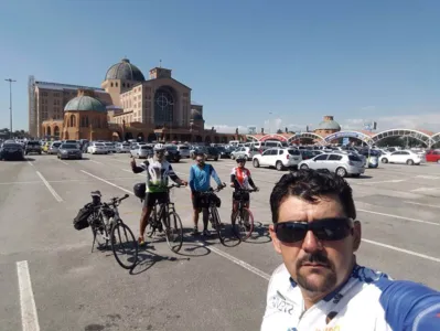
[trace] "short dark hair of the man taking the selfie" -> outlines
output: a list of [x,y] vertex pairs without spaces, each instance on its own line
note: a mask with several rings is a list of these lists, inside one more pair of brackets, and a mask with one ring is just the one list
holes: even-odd
[[278,222],[279,207],[289,196],[315,203],[320,196],[335,195],[341,201],[345,216],[356,218],[352,188],[335,173],[328,170],[298,170],[281,177],[270,194],[272,222]]

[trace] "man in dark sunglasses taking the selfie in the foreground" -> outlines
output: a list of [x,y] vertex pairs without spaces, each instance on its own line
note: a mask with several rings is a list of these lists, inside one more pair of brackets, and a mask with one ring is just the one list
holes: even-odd
[[269,281],[261,331],[440,330],[440,292],[357,265],[361,223],[344,179],[285,174],[270,209],[283,264]]

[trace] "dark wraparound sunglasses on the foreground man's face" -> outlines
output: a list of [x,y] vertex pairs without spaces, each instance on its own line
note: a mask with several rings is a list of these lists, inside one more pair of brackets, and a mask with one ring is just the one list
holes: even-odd
[[353,231],[353,220],[348,217],[322,218],[313,222],[282,222],[275,224],[277,238],[282,243],[297,243],[311,231],[319,241],[342,241]]

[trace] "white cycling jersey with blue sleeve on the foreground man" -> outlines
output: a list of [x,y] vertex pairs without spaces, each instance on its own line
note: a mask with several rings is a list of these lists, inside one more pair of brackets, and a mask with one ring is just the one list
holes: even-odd
[[310,309],[285,265],[272,274],[261,331],[440,330],[440,293],[355,266],[348,280]]

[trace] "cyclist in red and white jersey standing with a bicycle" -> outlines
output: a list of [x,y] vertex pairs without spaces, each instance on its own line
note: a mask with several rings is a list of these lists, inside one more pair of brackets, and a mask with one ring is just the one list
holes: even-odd
[[[250,171],[247,169],[246,166],[246,157],[239,156],[237,158],[237,167],[233,168],[230,172],[230,188],[234,188],[235,191],[233,193],[233,212],[230,214],[230,222],[234,224],[235,222],[235,213],[237,212],[238,207],[238,194],[243,196],[245,207],[249,207],[249,193],[248,192],[239,192],[239,190],[249,190],[251,186],[255,191],[258,191],[258,188],[255,185],[253,178],[250,177]],[[248,220],[245,220],[248,222]]]

